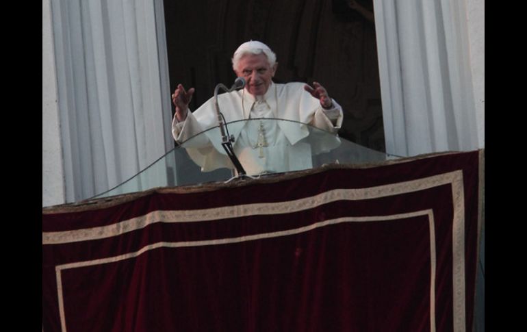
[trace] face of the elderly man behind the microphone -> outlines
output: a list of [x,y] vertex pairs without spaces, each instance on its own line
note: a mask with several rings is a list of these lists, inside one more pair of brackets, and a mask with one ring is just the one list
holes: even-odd
[[261,96],[266,94],[271,85],[271,79],[277,70],[277,66],[278,64],[274,64],[271,67],[267,55],[264,53],[247,54],[238,62],[235,73],[239,77],[244,77],[247,82],[246,89],[250,94]]

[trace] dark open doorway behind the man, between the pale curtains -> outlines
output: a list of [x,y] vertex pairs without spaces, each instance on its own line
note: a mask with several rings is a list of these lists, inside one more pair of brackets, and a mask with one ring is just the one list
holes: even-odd
[[[372,0],[356,0],[373,12]],[[170,90],[194,87],[191,110],[230,86],[233,51],[261,40],[275,53],[274,81],[319,81],[344,108],[339,135],[385,151],[375,26],[350,0],[165,0]]]

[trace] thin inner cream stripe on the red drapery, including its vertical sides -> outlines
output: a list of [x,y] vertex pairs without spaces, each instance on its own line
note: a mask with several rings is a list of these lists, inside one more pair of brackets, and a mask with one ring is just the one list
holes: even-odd
[[114,257],[107,257],[103,259],[93,259],[90,261],[79,261],[75,263],[62,264],[55,267],[56,279],[57,279],[57,295],[59,303],[60,322],[62,332],[66,332],[66,316],[64,311],[64,294],[62,290],[62,270],[68,270],[71,268],[81,268],[85,266],[94,266],[99,264],[114,263],[117,261],[123,261],[125,259],[135,258],[147,251],[151,251],[156,248],[183,248],[192,246],[211,246],[218,244],[233,244],[240,242],[248,242],[254,240],[262,240],[269,238],[280,238],[288,235],[295,235],[299,233],[305,233],[313,229],[326,227],[328,225],[337,225],[343,222],[375,222],[385,220],[399,220],[402,218],[411,218],[416,216],[428,216],[428,229],[430,232],[430,331],[435,332],[435,270],[437,264],[436,258],[436,241],[435,241],[435,226],[433,211],[426,209],[422,211],[409,212],[405,214],[394,214],[390,216],[363,216],[363,217],[341,217],[330,220],[324,220],[321,222],[315,222],[311,225],[300,227],[296,229],[287,229],[285,231],[275,231],[270,233],[261,233],[255,235],[241,236],[237,238],[224,238],[216,240],[202,240],[202,241],[189,241],[189,242],[157,242],[144,246],[139,251],[133,253],[127,253],[124,255],[118,255]]

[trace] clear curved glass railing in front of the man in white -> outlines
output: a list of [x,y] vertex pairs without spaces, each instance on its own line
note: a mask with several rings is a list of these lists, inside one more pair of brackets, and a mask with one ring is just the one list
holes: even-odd
[[[369,164],[396,159],[344,140],[333,133],[291,120],[256,118],[227,123],[233,150],[247,175],[267,176],[324,164]],[[227,181],[237,175],[222,146],[219,127],[181,142],[119,186],[92,199],[157,187]]]

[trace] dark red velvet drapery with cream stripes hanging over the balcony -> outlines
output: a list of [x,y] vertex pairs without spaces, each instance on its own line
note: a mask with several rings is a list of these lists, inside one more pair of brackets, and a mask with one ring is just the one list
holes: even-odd
[[44,331],[472,331],[483,151],[42,214]]

